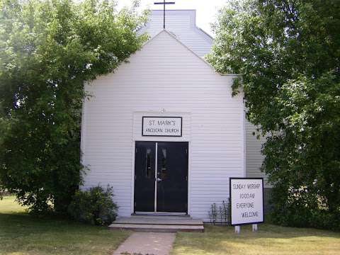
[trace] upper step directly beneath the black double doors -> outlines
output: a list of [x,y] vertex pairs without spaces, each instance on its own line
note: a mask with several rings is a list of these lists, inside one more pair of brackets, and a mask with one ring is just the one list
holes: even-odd
[[201,226],[202,220],[189,217],[117,217],[113,224],[135,224],[135,225],[188,225]]

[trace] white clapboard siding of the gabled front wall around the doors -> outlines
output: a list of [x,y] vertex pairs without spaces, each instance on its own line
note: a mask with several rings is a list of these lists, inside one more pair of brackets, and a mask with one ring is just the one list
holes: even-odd
[[163,30],[115,73],[98,77],[86,91],[81,146],[91,171],[84,188],[114,188],[119,215],[133,212],[135,140],[142,115],[181,115],[183,137],[147,140],[189,142],[188,213],[209,220],[212,203],[229,197],[229,177],[244,176],[242,95],[222,76]]

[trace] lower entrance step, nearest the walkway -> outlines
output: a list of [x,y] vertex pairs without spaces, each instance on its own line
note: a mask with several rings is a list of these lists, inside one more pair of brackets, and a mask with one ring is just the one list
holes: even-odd
[[204,232],[203,225],[147,225],[113,223],[108,227],[110,229],[133,230],[136,232]]

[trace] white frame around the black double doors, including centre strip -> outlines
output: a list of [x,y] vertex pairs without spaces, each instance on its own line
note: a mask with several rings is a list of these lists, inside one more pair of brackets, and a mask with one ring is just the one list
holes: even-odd
[[[186,212],[135,212],[135,152],[136,152],[136,142],[154,142],[155,144],[157,142],[187,142],[188,143],[188,181],[187,184],[187,208]],[[191,179],[191,142],[188,140],[177,140],[177,141],[169,141],[169,140],[132,140],[132,174],[131,174],[131,215],[134,214],[145,214],[145,215],[190,215],[191,212],[191,182],[189,180]],[[155,147],[155,176],[157,174],[157,146]],[[157,193],[157,185],[155,185],[155,193]],[[154,197],[154,199],[157,199],[157,196]],[[156,206],[156,203],[155,203]]]

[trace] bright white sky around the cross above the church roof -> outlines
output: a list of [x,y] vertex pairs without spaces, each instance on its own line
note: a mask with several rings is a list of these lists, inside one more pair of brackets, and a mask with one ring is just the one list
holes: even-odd
[[[131,0],[117,0],[118,8],[130,6]],[[163,5],[155,5],[154,2],[163,0],[141,0],[140,8],[152,10],[163,10]],[[210,23],[215,22],[217,10],[226,4],[227,0],[166,0],[174,1],[176,4],[167,4],[168,10],[196,9],[196,26],[213,35]]]

